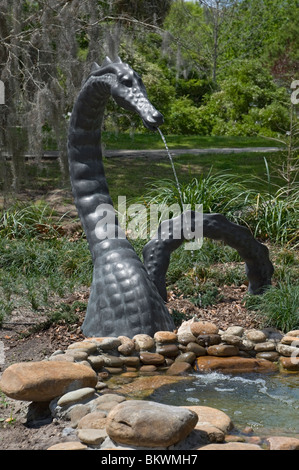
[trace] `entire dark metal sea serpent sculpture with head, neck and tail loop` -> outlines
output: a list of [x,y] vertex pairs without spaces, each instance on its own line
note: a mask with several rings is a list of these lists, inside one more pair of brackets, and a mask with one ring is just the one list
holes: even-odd
[[[129,65],[109,58],[101,66],[93,64],[74,104],[68,134],[72,191],[93,261],[82,332],[85,336],[153,336],[156,331],[175,328],[165,305],[165,276],[171,253],[188,239],[186,230],[181,230],[180,238],[173,236],[177,225],[189,220],[189,229],[194,232],[196,213],[190,211],[189,218],[185,213],[163,221],[145,245],[142,263],[119,225],[105,178],[101,126],[110,96],[125,110],[136,112],[150,130],[157,130],[164,121]],[[105,225],[101,224],[101,208],[105,208],[108,220]],[[222,240],[239,252],[245,261],[249,292],[258,294],[271,283],[273,266],[268,249],[247,228],[221,214],[204,214],[203,236]]]

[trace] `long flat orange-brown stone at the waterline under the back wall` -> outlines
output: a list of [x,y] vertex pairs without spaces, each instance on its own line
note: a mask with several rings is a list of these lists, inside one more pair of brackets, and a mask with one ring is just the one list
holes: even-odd
[[273,362],[265,359],[246,358],[240,356],[202,356],[196,359],[194,369],[199,372],[220,370],[227,373],[243,373],[271,372],[276,371],[277,367]]

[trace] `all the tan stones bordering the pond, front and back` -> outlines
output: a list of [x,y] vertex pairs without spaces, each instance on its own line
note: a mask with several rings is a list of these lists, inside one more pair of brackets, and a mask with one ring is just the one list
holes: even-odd
[[12,364],[1,376],[0,390],[31,402],[29,424],[66,423],[62,442],[49,450],[297,450],[297,438],[240,436],[220,410],[136,400],[126,393],[130,387],[113,389],[108,379],[128,377],[134,392],[134,378],[146,375],[150,388],[157,376],[160,386],[196,371],[297,373],[298,346],[299,330],[222,331],[192,319],[176,332],[86,338],[43,361]]

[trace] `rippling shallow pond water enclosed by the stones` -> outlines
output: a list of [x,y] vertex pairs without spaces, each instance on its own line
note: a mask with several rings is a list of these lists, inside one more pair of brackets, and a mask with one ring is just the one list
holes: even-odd
[[238,430],[250,426],[261,437],[299,438],[299,374],[197,374],[186,382],[161,387],[150,399],[217,408]]

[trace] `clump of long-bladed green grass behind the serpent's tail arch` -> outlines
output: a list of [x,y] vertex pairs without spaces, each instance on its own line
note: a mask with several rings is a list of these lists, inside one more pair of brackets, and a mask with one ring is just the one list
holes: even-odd
[[[236,175],[214,173],[181,184],[184,204],[194,210],[203,205],[204,213],[221,213],[232,222],[246,225],[255,237],[291,246],[298,244],[298,185],[292,191],[279,188],[274,194],[267,190],[256,193],[239,182]],[[178,188],[173,180],[153,183],[143,201],[171,206],[180,204]]]

